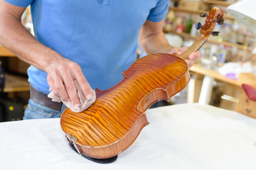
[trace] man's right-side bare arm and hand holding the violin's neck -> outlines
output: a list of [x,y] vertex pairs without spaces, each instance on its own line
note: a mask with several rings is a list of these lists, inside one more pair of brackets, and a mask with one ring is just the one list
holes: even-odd
[[[153,53],[174,53],[174,52],[184,52],[188,47],[181,47],[175,49],[166,40],[163,32],[163,21],[151,22],[146,21],[142,26],[141,32],[139,34],[139,43],[142,45],[142,49],[145,50],[147,54]],[[191,67],[195,60],[201,58],[201,52],[193,52],[188,56],[188,66]]]

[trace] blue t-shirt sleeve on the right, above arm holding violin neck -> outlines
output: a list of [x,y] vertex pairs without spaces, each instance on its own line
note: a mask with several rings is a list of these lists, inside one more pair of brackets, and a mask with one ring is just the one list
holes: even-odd
[[169,11],[169,0],[159,0],[154,8],[151,9],[147,20],[152,22],[162,21]]

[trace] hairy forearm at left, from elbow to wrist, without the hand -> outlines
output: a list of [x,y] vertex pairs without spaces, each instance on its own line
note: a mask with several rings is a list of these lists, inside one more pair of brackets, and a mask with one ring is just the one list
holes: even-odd
[[43,71],[50,62],[63,58],[38,42],[22,25],[20,18],[9,13],[0,13],[0,42],[21,60]]

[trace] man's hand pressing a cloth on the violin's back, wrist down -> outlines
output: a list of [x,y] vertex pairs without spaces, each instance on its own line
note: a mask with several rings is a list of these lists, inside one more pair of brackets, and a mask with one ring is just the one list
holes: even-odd
[[75,88],[74,79],[78,81],[85,98],[89,99],[92,97],[90,85],[77,63],[63,58],[58,60],[58,62],[53,61],[46,68],[46,72],[48,73],[47,81],[50,86],[50,91],[53,91],[53,94],[56,96],[70,100],[75,110],[78,109],[81,103],[78,98],[77,89]]

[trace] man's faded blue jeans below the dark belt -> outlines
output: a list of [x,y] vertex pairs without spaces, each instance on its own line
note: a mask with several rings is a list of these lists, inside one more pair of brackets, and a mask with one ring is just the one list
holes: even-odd
[[40,119],[40,118],[60,118],[60,115],[65,110],[66,106],[63,104],[61,111],[55,110],[53,108],[48,108],[41,104],[28,100],[28,108],[24,113],[23,120],[26,119]]

